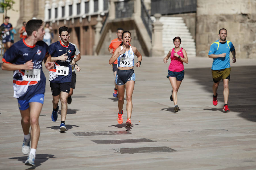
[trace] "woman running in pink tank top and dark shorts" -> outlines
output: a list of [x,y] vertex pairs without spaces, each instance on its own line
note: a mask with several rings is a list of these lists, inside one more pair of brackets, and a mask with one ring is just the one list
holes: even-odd
[[181,44],[180,37],[175,37],[173,39],[174,48],[170,50],[167,56],[164,58],[164,63],[167,63],[167,60],[170,58],[171,63],[168,68],[168,76],[170,83],[172,85],[172,95],[170,96],[171,101],[174,102],[174,112],[179,111],[179,106],[177,105],[178,97],[177,92],[179,86],[184,78],[184,63],[188,63],[187,52],[183,48],[179,47]]

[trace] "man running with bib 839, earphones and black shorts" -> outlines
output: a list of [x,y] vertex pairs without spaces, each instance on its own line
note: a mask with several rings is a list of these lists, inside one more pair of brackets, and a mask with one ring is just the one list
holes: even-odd
[[80,67],[74,60],[76,48],[69,43],[69,29],[65,26],[59,28],[60,41],[54,42],[49,46],[49,54],[51,55],[51,61],[54,61],[54,69],[50,70],[50,86],[52,93],[53,111],[51,114],[51,120],[57,121],[59,110],[59,99],[61,98],[61,124],[59,131],[67,131],[65,126],[65,120],[67,116],[67,98],[71,86],[72,68],[74,65],[76,71],[80,71]]

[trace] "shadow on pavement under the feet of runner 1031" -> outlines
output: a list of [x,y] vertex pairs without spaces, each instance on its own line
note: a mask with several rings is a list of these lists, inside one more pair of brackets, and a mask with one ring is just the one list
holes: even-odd
[[[35,169],[36,167],[40,166],[41,163],[46,162],[49,158],[55,158],[53,156],[54,155],[49,155],[49,154],[36,154],[36,162],[35,162],[36,165],[31,166],[31,167],[24,165],[24,167],[28,167],[28,169]],[[28,158],[28,156],[21,156],[21,157],[9,158],[9,159],[18,160],[18,161],[22,161],[23,163],[25,163],[27,158]]]

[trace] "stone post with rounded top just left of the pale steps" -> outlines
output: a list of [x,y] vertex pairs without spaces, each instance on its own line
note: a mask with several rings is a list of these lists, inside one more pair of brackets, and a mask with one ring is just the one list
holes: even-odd
[[163,56],[164,48],[162,45],[163,24],[159,21],[161,14],[154,14],[156,22],[153,23],[153,37],[151,56]]

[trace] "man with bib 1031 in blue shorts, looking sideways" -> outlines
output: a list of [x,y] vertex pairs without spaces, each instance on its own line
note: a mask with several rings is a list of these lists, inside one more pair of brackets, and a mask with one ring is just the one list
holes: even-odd
[[42,20],[28,21],[26,25],[28,38],[14,43],[4,54],[2,64],[3,70],[13,71],[13,97],[18,99],[24,133],[21,150],[24,155],[29,153],[25,165],[31,166],[35,165],[40,136],[38,118],[44,103],[46,84],[42,61],[44,60],[48,70],[54,67],[47,52],[48,45],[42,41],[45,33],[42,24]]

